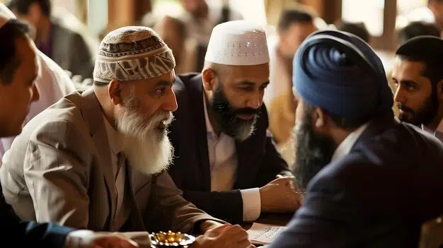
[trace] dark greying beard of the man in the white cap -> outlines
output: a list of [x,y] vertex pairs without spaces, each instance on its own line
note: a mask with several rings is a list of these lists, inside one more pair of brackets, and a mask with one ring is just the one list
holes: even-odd
[[[243,141],[253,133],[260,108],[256,110],[251,107],[235,109],[224,95],[222,86],[214,90],[214,97],[209,102],[209,106],[214,112],[220,131],[224,134]],[[250,120],[244,120],[238,118],[237,114],[254,114],[254,117]]]

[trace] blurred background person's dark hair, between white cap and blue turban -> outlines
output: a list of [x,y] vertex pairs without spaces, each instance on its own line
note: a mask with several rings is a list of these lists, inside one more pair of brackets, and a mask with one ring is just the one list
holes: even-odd
[[285,9],[278,20],[277,30],[285,31],[294,23],[313,23],[315,17],[309,8]]

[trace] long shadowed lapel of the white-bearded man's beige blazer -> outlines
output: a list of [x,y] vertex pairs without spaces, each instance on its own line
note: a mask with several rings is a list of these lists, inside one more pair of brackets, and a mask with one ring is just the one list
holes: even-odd
[[108,187],[109,194],[109,206],[110,206],[110,220],[112,220],[115,214],[115,206],[117,202],[115,201],[115,180],[113,175],[112,162],[110,157],[110,148],[108,141],[108,134],[106,134],[105,122],[103,122],[103,115],[100,114],[101,107],[93,88],[89,88],[84,93],[81,94],[83,101],[81,104],[81,114],[84,120],[88,124],[89,134],[93,138],[95,147],[97,148],[101,170],[105,177],[105,182]]

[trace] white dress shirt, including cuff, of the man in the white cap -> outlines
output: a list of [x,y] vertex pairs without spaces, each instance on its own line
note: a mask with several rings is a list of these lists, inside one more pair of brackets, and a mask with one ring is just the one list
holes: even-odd
[[[205,109],[207,149],[211,171],[211,191],[229,191],[237,179],[236,141],[224,133],[217,135],[212,128],[207,114],[206,100],[203,97]],[[258,188],[241,189],[243,199],[243,220],[253,221],[260,216],[261,202]]]

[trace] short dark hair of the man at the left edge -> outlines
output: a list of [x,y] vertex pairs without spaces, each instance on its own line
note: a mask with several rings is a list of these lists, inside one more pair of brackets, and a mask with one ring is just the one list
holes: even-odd
[[28,33],[28,25],[16,19],[0,28],[0,80],[4,84],[11,83],[13,74],[20,65],[20,57],[16,51],[16,40]]

